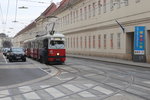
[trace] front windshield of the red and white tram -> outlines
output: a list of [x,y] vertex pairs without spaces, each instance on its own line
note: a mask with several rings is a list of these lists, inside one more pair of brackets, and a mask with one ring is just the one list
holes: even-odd
[[60,40],[50,41],[50,49],[64,49],[64,41]]

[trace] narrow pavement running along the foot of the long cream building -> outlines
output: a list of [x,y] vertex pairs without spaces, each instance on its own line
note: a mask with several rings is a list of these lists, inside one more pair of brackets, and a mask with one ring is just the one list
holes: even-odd
[[116,63],[116,64],[124,64],[124,65],[130,65],[130,66],[146,67],[146,68],[149,67],[150,68],[150,64],[148,64],[148,63],[133,62],[130,60],[94,57],[94,56],[72,55],[72,54],[67,54],[67,56],[74,57],[74,58],[92,59],[92,60],[99,60],[99,61],[103,61],[103,62],[110,62],[110,63]]

